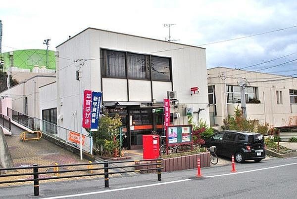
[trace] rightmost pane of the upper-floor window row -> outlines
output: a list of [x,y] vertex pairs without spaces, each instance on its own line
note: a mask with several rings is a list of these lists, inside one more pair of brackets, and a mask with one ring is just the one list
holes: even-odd
[[170,58],[151,56],[151,79],[170,80]]

